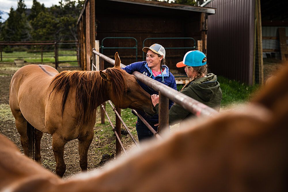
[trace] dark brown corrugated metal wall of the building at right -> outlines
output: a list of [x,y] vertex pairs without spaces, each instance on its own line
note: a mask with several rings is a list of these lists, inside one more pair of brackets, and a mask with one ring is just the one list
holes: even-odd
[[255,0],[214,0],[208,16],[207,61],[211,72],[253,84]]

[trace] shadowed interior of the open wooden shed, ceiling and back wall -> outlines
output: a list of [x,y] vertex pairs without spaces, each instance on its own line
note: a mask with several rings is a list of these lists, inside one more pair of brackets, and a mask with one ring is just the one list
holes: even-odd
[[[146,38],[192,37],[196,41],[196,46],[197,40],[206,39],[206,28],[202,27],[201,18],[204,18],[206,22],[207,14],[121,2],[113,2],[112,4],[111,1],[108,8],[107,4],[105,1],[96,1],[95,3],[96,39],[99,40],[101,45],[105,37],[134,37],[138,43],[137,61],[143,60],[142,48],[143,41]],[[149,10],[149,14],[147,10]],[[134,41],[123,39],[105,39],[103,43],[105,47],[134,46]],[[159,43],[165,48],[194,46],[192,41],[179,39],[147,40],[144,46],[150,46],[153,43]],[[102,50],[100,49],[100,51]],[[134,50],[115,49],[109,52],[104,49],[104,51],[104,54],[111,57],[118,51],[120,59],[125,65],[136,61],[135,58],[132,58],[135,55]],[[183,60],[183,56],[187,51],[189,50],[172,51],[166,49],[166,60],[169,68],[179,70],[175,64]],[[185,71],[180,71],[180,73],[185,74]]]

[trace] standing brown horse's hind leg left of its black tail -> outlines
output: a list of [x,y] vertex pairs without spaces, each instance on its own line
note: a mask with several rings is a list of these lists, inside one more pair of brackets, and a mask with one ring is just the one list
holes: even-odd
[[29,139],[27,136],[27,120],[23,117],[21,111],[14,112],[15,124],[18,133],[20,134],[20,141],[24,154],[29,157]]

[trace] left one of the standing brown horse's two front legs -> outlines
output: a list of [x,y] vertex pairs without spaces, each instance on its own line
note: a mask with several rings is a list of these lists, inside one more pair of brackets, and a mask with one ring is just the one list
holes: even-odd
[[52,149],[56,161],[56,174],[62,177],[66,170],[64,162],[64,146],[67,143],[61,136],[57,134],[52,135]]

